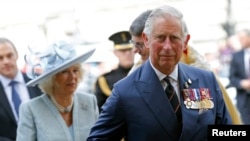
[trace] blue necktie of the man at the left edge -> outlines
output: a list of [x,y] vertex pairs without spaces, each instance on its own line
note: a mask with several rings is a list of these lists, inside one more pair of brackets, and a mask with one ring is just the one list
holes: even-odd
[[16,84],[17,84],[17,82],[12,80],[9,85],[11,86],[12,102],[14,103],[15,111],[16,111],[16,114],[18,116],[19,106],[21,104],[21,99],[19,97],[18,92],[16,91],[16,88],[15,88]]

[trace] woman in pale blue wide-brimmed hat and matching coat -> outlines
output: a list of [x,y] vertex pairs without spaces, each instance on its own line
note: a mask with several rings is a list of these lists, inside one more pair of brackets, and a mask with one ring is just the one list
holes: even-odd
[[17,141],[86,140],[99,111],[94,95],[76,89],[83,77],[81,63],[94,51],[77,54],[72,45],[58,42],[26,57],[33,78],[27,85],[38,84],[44,94],[20,106]]

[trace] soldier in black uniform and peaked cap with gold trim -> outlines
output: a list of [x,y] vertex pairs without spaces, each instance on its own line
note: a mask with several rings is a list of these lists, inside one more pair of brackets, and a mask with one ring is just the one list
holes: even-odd
[[95,94],[100,111],[101,106],[111,94],[113,84],[127,76],[134,65],[134,53],[133,45],[130,43],[130,33],[128,31],[120,31],[112,34],[109,40],[114,42],[114,54],[117,56],[119,63],[116,69],[99,76],[95,84]]

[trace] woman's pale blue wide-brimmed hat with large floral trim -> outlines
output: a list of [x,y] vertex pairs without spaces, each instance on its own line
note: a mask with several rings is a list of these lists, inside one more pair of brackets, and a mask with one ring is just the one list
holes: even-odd
[[33,52],[31,49],[29,51],[30,53],[25,55],[26,73],[32,80],[26,85],[35,86],[74,64],[84,62],[95,52],[95,48],[82,48],[76,51],[74,45],[59,41],[43,52]]

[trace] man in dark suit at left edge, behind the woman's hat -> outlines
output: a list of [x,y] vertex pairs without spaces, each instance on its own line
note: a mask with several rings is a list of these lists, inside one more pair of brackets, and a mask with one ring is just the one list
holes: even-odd
[[38,87],[26,87],[30,79],[17,66],[18,53],[15,45],[7,38],[0,38],[0,141],[15,141],[18,113],[11,100],[11,86],[16,81],[16,91],[22,101],[41,95]]

